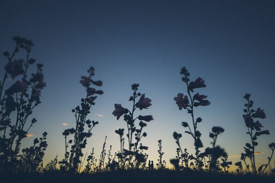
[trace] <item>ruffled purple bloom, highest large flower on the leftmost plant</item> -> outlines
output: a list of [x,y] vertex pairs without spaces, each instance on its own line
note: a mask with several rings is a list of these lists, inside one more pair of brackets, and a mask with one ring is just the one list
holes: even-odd
[[19,60],[10,61],[9,63],[7,63],[5,70],[7,71],[7,73],[10,74],[10,76],[13,79],[16,76],[23,74],[24,73],[23,60],[19,59]]

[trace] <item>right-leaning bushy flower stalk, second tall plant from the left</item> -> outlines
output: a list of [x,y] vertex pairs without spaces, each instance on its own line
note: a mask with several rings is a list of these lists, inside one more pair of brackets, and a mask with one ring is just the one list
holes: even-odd
[[[102,86],[102,81],[94,81],[92,77],[94,76],[94,67],[90,67],[90,69],[87,71],[89,73],[89,76],[82,76],[80,83],[85,87],[86,89],[86,97],[85,99],[81,99],[81,108],[77,106],[75,109],[72,109],[71,111],[75,114],[75,122],[76,127],[65,130],[62,135],[65,137],[65,158],[60,161],[62,169],[70,169],[73,171],[78,171],[79,166],[81,165],[81,161],[79,160],[80,157],[83,156],[82,149],[85,148],[87,144],[87,138],[92,135],[91,131],[93,127],[98,124],[98,121],[90,121],[87,120],[86,117],[90,113],[91,106],[94,106],[94,100],[97,98],[97,96],[93,96],[95,94],[102,95],[102,90],[96,90],[95,88],[91,88],[91,84],[94,84],[96,86]],[[84,132],[85,125],[88,125],[88,131]],[[74,134],[74,140],[69,141],[68,143],[72,142],[71,150],[70,152],[67,152],[68,143],[66,142],[67,136],[69,134]],[[70,157],[69,157],[70,154]]]

